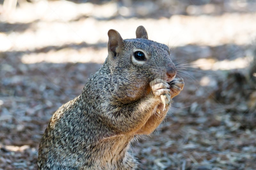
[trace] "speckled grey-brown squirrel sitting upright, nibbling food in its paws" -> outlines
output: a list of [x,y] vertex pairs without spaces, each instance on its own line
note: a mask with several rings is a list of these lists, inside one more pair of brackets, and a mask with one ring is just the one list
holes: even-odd
[[52,116],[38,151],[38,169],[136,169],[129,152],[140,135],[163,121],[183,89],[168,46],[148,40],[143,26],[135,39],[108,31],[108,56],[82,94]]

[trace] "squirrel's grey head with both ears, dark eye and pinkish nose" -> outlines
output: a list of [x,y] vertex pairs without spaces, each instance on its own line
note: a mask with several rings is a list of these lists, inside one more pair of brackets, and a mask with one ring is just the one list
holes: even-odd
[[172,81],[176,68],[170,56],[168,46],[148,40],[143,26],[136,30],[135,39],[123,40],[113,29],[108,31],[107,62],[112,74],[142,76],[147,82],[155,78]]

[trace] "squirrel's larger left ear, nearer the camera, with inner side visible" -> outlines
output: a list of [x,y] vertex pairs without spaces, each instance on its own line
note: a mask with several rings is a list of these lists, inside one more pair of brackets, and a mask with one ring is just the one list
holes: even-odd
[[113,29],[108,31],[108,53],[113,52],[114,56],[116,56],[117,47],[121,47],[123,43],[123,39],[121,35]]

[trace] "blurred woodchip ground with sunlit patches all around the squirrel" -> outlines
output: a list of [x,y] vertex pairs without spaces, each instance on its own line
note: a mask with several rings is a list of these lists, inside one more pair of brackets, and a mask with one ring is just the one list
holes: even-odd
[[256,1],[0,0],[0,169],[36,169],[52,114],[107,57],[107,32],[171,48],[185,87],[133,144],[140,169],[256,169]]

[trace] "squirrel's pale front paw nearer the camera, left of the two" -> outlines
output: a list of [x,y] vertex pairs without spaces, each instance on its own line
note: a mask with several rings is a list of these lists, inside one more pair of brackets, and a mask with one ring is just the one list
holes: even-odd
[[162,103],[164,104],[163,110],[166,110],[166,108],[171,103],[170,85],[163,79],[156,78],[150,82],[150,87],[155,96],[158,96],[158,97],[160,96],[160,99],[161,99]]

